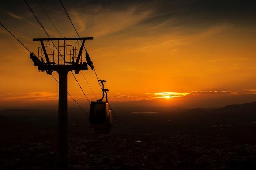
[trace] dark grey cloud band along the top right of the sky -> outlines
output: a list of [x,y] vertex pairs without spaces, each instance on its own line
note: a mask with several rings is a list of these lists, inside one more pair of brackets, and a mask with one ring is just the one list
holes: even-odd
[[[150,10],[150,15],[141,20],[140,24],[151,24],[154,26],[166,23],[173,18],[176,19],[175,26],[186,25],[187,27],[191,27],[192,24],[202,27],[202,23],[209,27],[227,21],[252,24],[256,16],[254,1],[89,0],[86,3],[81,1],[69,3],[73,10],[83,11],[83,13],[85,11],[87,15],[90,15],[90,13],[97,15],[107,11],[122,13],[134,7],[136,7],[134,13],[138,15]],[[108,16],[103,16],[103,18],[108,18]],[[173,25],[173,23],[170,23],[170,25]]]

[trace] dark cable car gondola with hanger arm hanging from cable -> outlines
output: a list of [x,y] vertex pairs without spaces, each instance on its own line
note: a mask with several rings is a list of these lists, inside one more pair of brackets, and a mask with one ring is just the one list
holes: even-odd
[[[109,134],[112,127],[112,113],[108,104],[108,89],[104,89],[103,82],[105,80],[99,80],[102,84],[102,98],[97,101],[92,101],[90,105],[89,123],[90,127],[94,128],[96,134]],[[103,101],[104,92],[106,93],[106,101]]]

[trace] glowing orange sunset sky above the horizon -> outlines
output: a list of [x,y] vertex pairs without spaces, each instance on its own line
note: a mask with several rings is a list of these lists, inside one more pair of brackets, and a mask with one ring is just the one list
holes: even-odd
[[[77,36],[59,0],[38,1],[62,36]],[[59,37],[37,1],[27,2],[49,35]],[[94,37],[85,46],[98,77],[107,81],[109,101],[191,107],[193,100],[209,101],[198,107],[256,101],[253,1],[63,0],[63,4],[79,35]],[[5,0],[0,12],[0,22],[38,55],[41,45],[32,38],[47,36],[26,3]],[[0,107],[57,105],[56,81],[38,72],[29,52],[3,27],[0,50]],[[100,98],[94,72],[89,69],[83,75]],[[76,78],[89,100],[95,100],[82,74]],[[68,92],[88,107],[71,73]],[[70,98],[69,106],[75,106]]]

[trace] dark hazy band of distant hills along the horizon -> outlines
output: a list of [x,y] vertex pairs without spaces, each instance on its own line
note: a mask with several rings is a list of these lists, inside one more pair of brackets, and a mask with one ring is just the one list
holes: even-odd
[[[173,113],[181,114],[184,116],[202,116],[202,115],[255,115],[256,116],[256,102],[226,105],[222,108],[194,108],[185,111],[182,107],[116,107],[114,108],[118,113],[123,112],[135,112],[135,111],[156,111],[158,113],[170,111]],[[69,117],[83,117],[86,116],[80,108],[69,108]],[[9,117],[16,120],[33,120],[42,119],[42,117],[57,117],[56,110],[44,110],[44,109],[5,109],[0,110],[0,116]],[[4,118],[1,117],[3,122]],[[0,122],[1,123],[1,122]]]

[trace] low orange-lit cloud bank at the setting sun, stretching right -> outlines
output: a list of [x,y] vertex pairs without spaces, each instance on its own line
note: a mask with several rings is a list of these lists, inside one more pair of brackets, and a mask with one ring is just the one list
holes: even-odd
[[[172,93],[175,95],[174,97],[164,97]],[[256,95],[253,93],[238,93],[231,90],[193,91],[184,96],[178,93],[177,95],[174,92],[172,93],[163,92],[157,98],[156,96],[151,96],[134,104],[141,107],[151,105],[179,106],[182,108],[218,108],[230,104],[243,104],[256,101]]]

